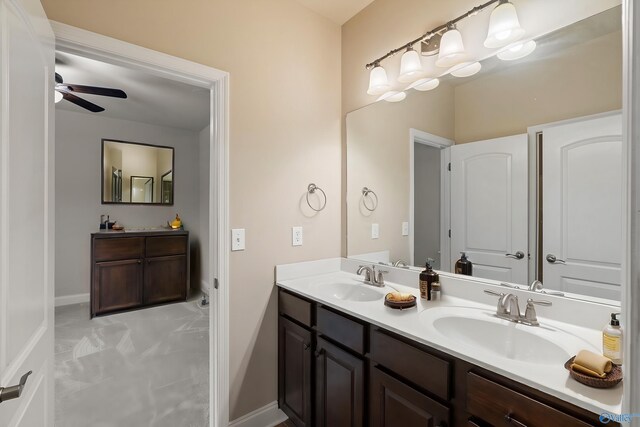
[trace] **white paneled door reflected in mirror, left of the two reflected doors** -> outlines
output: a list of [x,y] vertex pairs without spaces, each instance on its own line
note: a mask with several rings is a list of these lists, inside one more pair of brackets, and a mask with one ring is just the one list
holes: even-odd
[[473,276],[527,283],[527,135],[451,147],[451,263]]

